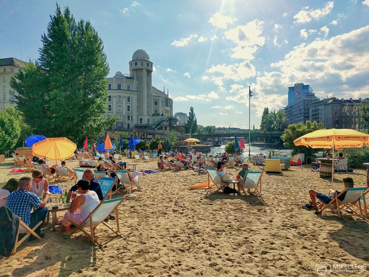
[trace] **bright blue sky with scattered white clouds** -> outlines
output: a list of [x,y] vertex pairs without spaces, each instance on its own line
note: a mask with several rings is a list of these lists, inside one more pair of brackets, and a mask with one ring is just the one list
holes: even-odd
[[[369,97],[369,0],[59,0],[92,23],[110,67],[129,73],[145,49],[153,85],[174,113],[201,125],[259,128],[264,107],[287,105],[288,87],[320,99]],[[0,58],[38,59],[56,2],[0,0]]]

